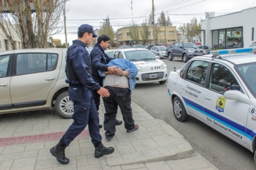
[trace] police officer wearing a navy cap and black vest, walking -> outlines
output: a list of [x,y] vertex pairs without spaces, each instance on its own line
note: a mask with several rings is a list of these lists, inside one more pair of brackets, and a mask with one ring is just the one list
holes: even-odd
[[102,97],[108,97],[109,92],[101,87],[91,78],[90,56],[86,48],[97,35],[92,26],[83,24],[78,28],[78,39],[73,41],[73,45],[67,51],[66,74],[69,83],[69,97],[74,104],[74,122],[67,132],[62,136],[56,146],[50,149],[50,153],[55,156],[59,163],[68,164],[69,159],[65,157],[65,148],[69,146],[77,135],[79,135],[86,125],[89,126],[91,141],[94,144],[94,157],[99,158],[114,152],[113,147],[105,147],[101,143],[102,137],[99,131],[99,116],[94,104],[92,92],[96,91]]

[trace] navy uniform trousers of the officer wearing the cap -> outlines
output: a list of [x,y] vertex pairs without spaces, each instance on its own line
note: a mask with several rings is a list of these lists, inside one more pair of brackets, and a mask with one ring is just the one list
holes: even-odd
[[88,125],[92,143],[101,142],[99,116],[91,91],[86,87],[69,87],[69,97],[74,103],[72,116],[74,122],[62,136],[61,141],[69,146],[69,143]]

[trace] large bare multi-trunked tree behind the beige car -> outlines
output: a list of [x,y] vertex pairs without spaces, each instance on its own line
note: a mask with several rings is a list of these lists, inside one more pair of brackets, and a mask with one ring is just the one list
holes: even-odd
[[23,48],[48,47],[50,35],[62,30],[61,16],[67,0],[5,0],[0,3],[0,28],[12,47],[12,29]]

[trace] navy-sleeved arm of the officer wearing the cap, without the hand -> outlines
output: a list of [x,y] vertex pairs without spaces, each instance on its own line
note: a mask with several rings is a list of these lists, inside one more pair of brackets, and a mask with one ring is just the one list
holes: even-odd
[[87,59],[89,59],[89,55],[85,56],[85,53],[83,50],[78,49],[76,54],[72,56],[72,66],[73,69],[76,72],[76,75],[78,76],[79,80],[83,83],[85,87],[87,87],[89,90],[96,90],[98,91],[101,86],[99,83],[96,83],[90,76],[90,74],[87,72]]

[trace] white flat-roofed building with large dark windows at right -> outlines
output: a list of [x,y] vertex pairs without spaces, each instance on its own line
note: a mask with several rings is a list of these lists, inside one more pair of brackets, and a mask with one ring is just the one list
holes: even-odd
[[[208,14],[208,13],[206,13]],[[256,41],[256,7],[201,21],[202,44],[213,48],[249,47]]]

